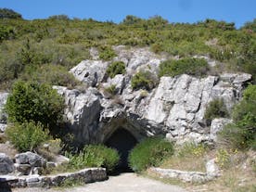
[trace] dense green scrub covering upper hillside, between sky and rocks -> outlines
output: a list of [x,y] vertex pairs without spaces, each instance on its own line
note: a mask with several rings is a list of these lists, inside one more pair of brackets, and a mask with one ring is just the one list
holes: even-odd
[[[111,45],[150,46],[156,53],[180,58],[210,56],[223,63],[217,66],[221,71],[256,73],[255,19],[236,30],[234,23],[213,19],[195,24],[169,23],[160,16],[149,19],[127,16],[120,24],[69,19],[65,15],[25,20],[9,9],[0,9],[0,16],[1,89],[8,88],[16,79],[27,81],[34,71],[42,68],[52,67],[60,77],[71,79],[66,71],[90,58],[88,50],[92,46],[98,48],[103,59],[114,56]],[[40,75],[47,71],[42,70]],[[38,79],[33,75],[33,80]],[[58,79],[48,81],[58,82]]]

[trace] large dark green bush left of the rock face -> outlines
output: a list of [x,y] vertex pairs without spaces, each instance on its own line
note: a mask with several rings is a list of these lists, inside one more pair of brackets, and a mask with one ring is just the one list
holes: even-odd
[[[64,99],[47,84],[19,81],[6,101],[10,122],[41,122],[53,129],[62,121]],[[51,131],[51,130],[50,130]]]

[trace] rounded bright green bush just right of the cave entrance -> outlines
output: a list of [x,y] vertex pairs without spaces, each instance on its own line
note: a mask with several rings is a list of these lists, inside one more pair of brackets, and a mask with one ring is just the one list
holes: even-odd
[[134,172],[141,172],[150,166],[159,166],[162,160],[172,155],[173,143],[160,136],[149,137],[134,147],[128,161]]

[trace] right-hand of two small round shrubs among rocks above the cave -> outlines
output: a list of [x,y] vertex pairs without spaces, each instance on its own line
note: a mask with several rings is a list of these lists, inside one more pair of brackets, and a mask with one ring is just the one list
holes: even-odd
[[151,90],[156,86],[157,81],[154,79],[150,71],[140,70],[133,76],[131,83],[132,83],[133,89]]

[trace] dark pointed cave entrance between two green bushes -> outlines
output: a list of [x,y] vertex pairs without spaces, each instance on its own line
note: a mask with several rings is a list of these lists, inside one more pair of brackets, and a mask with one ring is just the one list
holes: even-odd
[[123,128],[117,129],[109,139],[105,142],[107,147],[117,149],[121,156],[118,170],[120,172],[131,171],[128,166],[128,156],[131,149],[137,144],[137,140],[133,134]]

